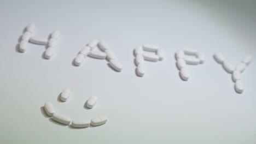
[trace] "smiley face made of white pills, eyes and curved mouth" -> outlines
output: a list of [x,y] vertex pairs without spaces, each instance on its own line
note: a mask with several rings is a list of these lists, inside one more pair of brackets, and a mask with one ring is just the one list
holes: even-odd
[[[71,89],[65,88],[61,93],[60,99],[62,101],[66,101],[69,98],[70,94],[71,94]],[[93,95],[86,101],[87,103],[86,106],[89,109],[92,109],[95,106],[96,101],[97,101],[97,97]],[[72,121],[71,118],[69,118],[68,116],[57,113],[54,109],[53,104],[51,104],[50,102],[46,102],[44,104],[44,110],[49,117],[52,117],[54,119],[54,121],[65,124],[65,125],[69,125],[71,123],[71,126],[74,128],[86,128],[86,127],[89,127],[90,124],[92,126],[98,126],[98,125],[105,124],[108,120],[106,116],[98,116],[96,118],[92,118],[91,120],[73,119]]]

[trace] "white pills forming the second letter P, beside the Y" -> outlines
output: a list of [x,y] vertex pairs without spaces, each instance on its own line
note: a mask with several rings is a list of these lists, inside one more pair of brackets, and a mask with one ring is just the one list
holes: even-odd
[[199,52],[196,49],[191,48],[184,48],[178,50],[175,53],[175,57],[177,61],[177,68],[180,70],[179,75],[181,76],[181,79],[184,81],[187,81],[190,76],[186,64],[197,65],[203,64],[205,62],[205,54],[203,52]]

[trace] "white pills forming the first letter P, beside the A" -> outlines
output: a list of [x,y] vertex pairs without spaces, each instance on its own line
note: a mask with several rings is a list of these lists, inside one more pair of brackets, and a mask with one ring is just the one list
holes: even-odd
[[[154,52],[154,53],[148,53],[143,51]],[[141,77],[144,76],[145,74],[144,60],[151,61],[151,62],[162,61],[165,55],[164,51],[159,49],[158,46],[149,45],[149,44],[144,44],[142,46],[135,47],[134,54],[135,54],[135,64],[137,66],[136,73],[138,76],[141,76]]]

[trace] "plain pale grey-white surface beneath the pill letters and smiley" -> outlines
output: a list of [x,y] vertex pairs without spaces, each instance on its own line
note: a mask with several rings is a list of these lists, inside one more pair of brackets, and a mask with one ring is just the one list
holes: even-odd
[[[231,75],[212,58],[223,52],[234,65],[256,57],[255,1],[1,1],[0,143],[256,143],[255,62],[242,74],[237,94]],[[55,56],[44,47],[15,51],[22,29],[36,23],[39,37],[60,29]],[[108,41],[123,71],[106,61],[72,61],[91,39]],[[162,62],[146,62],[135,75],[132,50],[156,44]],[[206,53],[206,63],[189,66],[182,81],[174,52],[184,46]],[[72,96],[57,101],[63,88]],[[98,96],[94,109],[85,101]],[[51,101],[57,112],[74,118],[108,116],[100,127],[72,129],[43,115]]]

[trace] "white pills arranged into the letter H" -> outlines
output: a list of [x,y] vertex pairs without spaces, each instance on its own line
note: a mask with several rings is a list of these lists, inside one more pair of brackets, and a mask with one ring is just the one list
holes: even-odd
[[33,23],[25,28],[26,30],[22,34],[21,41],[19,43],[19,51],[26,51],[28,41],[32,44],[45,45],[47,49],[44,52],[44,57],[46,59],[50,59],[51,56],[53,56],[54,48],[56,47],[57,41],[60,37],[60,31],[52,32],[50,34],[50,39],[48,40],[47,38],[33,37],[32,34],[34,33],[35,28],[36,26]]

